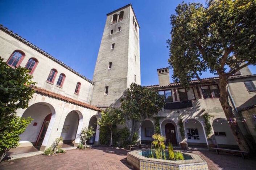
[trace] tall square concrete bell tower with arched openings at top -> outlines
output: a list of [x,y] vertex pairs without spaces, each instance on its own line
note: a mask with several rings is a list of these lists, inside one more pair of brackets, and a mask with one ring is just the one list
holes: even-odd
[[92,81],[91,104],[106,108],[140,84],[140,34],[132,5],[107,14]]

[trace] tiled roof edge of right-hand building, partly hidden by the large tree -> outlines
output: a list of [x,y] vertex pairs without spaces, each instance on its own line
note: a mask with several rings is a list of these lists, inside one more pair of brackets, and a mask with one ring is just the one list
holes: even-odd
[[[238,78],[246,78],[246,77],[255,77],[256,74],[252,74],[252,75],[232,75],[230,76],[228,79],[238,79]],[[208,77],[208,78],[202,78],[203,82],[208,82],[209,80],[211,81],[211,79],[219,79],[219,77]],[[190,84],[194,84],[194,83],[200,83],[199,80],[192,80],[190,82]],[[173,86],[180,86],[181,84],[180,83],[170,83],[169,85],[167,86],[159,86],[158,84],[157,85],[151,85],[151,86],[145,86],[147,88],[156,88],[156,87],[173,87]]]

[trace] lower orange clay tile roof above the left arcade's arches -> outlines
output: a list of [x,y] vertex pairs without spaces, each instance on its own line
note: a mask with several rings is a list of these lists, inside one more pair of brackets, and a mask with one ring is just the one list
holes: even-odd
[[48,95],[48,96],[51,96],[51,97],[54,97],[54,98],[57,98],[57,99],[60,99],[60,100],[64,100],[64,101],[67,101],[67,102],[70,102],[70,103],[73,103],[73,104],[77,104],[79,106],[83,106],[83,107],[88,108],[88,109],[92,109],[92,110],[96,110],[96,111],[102,111],[100,108],[97,108],[96,106],[84,103],[84,102],[79,101],[79,100],[71,99],[70,97],[66,97],[66,96],[57,94],[55,92],[46,90],[46,89],[41,88],[41,87],[37,87],[37,86],[30,86],[30,87],[37,93],[42,93],[42,94],[45,94],[45,95]]

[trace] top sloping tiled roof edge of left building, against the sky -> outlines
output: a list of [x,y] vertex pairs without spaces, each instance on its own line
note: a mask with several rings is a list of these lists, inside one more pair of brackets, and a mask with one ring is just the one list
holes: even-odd
[[13,36],[14,38],[20,40],[21,42],[23,42],[24,44],[32,47],[33,49],[35,49],[36,51],[40,52],[42,55],[50,58],[51,60],[57,62],[58,64],[62,65],[63,67],[65,67],[66,69],[72,71],[73,73],[77,74],[79,77],[82,77],[83,79],[85,79],[87,82],[94,84],[94,82],[92,82],[92,80],[88,79],[87,77],[83,76],[82,74],[78,73],[77,71],[75,71],[74,69],[72,69],[70,66],[67,66],[66,64],[64,64],[62,61],[59,61],[58,59],[54,58],[53,56],[51,56],[50,54],[48,54],[47,52],[45,52],[44,50],[42,50],[41,48],[37,47],[36,45],[34,45],[33,43],[29,42],[28,40],[26,40],[25,38],[22,38],[20,35],[18,35],[17,33],[13,33],[12,30],[9,30],[7,27],[4,27],[3,25],[0,24],[0,29],[2,29],[3,31],[7,32],[8,34],[10,34],[11,36]]

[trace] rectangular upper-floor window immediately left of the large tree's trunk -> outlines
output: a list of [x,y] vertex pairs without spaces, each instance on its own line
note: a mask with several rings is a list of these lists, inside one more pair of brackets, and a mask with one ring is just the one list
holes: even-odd
[[220,97],[218,85],[201,86],[204,99]]

